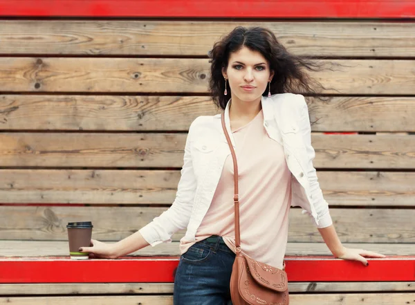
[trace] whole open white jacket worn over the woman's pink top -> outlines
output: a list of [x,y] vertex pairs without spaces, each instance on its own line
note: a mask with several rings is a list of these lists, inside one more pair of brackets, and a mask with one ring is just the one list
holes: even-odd
[[[262,97],[261,104],[268,136],[284,146],[292,179],[291,205],[302,207],[303,214],[307,213],[317,228],[328,227],[333,222],[313,167],[315,151],[311,146],[311,126],[304,96],[275,94],[270,98]],[[229,107],[230,102],[224,112],[225,125],[234,146]],[[142,237],[151,246],[171,242],[172,234],[186,227],[185,239],[195,241],[196,230],[208,212],[229,154],[221,114],[202,115],[192,122],[174,203],[140,229]],[[233,198],[229,198],[229,204],[234,204]]]

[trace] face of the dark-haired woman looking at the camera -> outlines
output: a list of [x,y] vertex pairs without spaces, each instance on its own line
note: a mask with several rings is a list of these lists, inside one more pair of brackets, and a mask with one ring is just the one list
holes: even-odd
[[228,79],[232,100],[238,98],[243,102],[260,99],[274,76],[264,56],[246,46],[230,53],[228,68],[223,68],[222,74]]

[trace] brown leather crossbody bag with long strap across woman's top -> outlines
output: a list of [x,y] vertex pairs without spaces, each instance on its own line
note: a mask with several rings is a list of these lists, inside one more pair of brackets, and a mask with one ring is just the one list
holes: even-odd
[[232,154],[234,165],[234,209],[235,209],[235,252],[236,257],[230,277],[230,295],[233,305],[288,305],[288,280],[283,270],[260,263],[241,253],[239,231],[239,191],[237,156],[225,127],[222,113],[222,127]]

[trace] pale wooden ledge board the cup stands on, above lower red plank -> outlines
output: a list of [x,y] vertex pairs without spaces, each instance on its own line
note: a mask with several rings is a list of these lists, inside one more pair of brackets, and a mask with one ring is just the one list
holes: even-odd
[[[112,243],[112,242],[109,242]],[[383,255],[415,255],[415,243],[343,243],[347,248],[362,248]],[[68,241],[21,241],[0,240],[0,257],[42,257],[68,256]],[[149,256],[179,256],[179,242],[160,243],[155,247],[147,246],[128,257]],[[332,255],[326,243],[297,243],[288,242],[286,248],[288,256]],[[415,287],[414,287],[415,289]],[[0,293],[1,295],[1,293]]]

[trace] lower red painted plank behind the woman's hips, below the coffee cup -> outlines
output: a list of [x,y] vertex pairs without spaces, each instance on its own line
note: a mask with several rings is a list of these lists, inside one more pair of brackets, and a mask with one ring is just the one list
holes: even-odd
[[[286,257],[288,281],[415,281],[415,256],[368,259],[369,266],[329,256]],[[67,257],[2,258],[0,283],[174,281],[178,257],[73,261]]]

